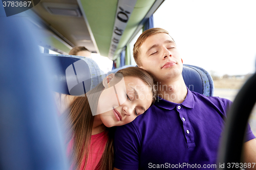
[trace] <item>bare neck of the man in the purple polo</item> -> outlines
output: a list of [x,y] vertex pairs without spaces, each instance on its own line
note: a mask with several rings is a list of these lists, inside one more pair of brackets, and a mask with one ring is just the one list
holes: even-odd
[[187,88],[183,77],[173,81],[158,81],[158,96],[166,101],[173,103],[182,103],[187,95]]

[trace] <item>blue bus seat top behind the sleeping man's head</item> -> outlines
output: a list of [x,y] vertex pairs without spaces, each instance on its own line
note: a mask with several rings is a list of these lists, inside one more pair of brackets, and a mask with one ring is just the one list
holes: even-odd
[[[116,71],[129,66],[125,65],[123,67],[113,69],[108,74],[115,73]],[[214,81],[205,69],[194,65],[183,64],[182,76],[189,90],[206,96],[214,95]]]

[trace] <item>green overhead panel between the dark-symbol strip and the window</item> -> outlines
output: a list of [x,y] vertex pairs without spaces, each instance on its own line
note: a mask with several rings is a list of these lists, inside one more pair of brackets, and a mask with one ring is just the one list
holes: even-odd
[[133,13],[127,22],[127,26],[123,32],[123,35],[117,46],[114,59],[118,57],[118,54],[121,53],[122,48],[127,44],[130,37],[133,35],[140,21],[145,17],[147,12],[151,9],[152,5],[155,3],[155,0],[138,0]]

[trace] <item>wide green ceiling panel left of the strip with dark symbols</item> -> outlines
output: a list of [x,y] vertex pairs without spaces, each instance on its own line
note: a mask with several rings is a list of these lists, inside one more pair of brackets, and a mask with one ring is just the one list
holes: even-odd
[[81,0],[101,56],[108,56],[118,0]]

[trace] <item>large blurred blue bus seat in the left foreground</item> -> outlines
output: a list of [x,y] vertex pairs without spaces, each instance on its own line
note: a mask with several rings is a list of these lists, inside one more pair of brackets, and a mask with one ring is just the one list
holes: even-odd
[[27,16],[0,6],[0,169],[69,169],[49,72]]

